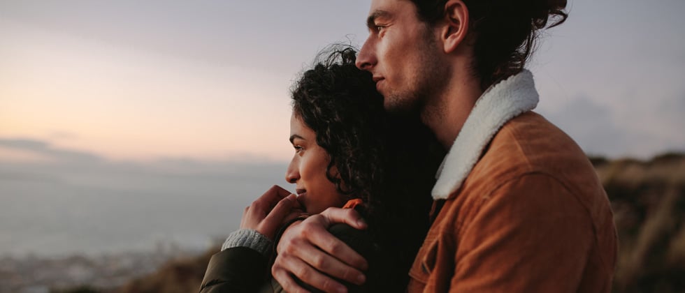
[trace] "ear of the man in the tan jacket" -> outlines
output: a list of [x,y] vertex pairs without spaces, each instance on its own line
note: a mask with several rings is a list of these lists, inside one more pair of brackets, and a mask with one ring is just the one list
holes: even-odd
[[468,8],[462,0],[449,0],[445,3],[444,27],[440,31],[443,50],[451,53],[459,47],[468,33]]

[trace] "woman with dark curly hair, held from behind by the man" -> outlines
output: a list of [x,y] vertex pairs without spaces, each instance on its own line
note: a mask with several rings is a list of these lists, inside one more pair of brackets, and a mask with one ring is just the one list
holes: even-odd
[[[414,255],[428,230],[433,174],[442,158],[435,138],[413,114],[389,114],[356,52],[333,50],[306,71],[292,92],[290,141],[295,154],[286,181],[245,209],[241,230],[212,257],[202,292],[278,291],[268,276],[277,227],[303,214],[354,207],[368,229],[331,227],[369,261],[366,283],[352,291],[403,290]],[[319,57],[324,56],[320,54]],[[312,288],[310,288],[312,289]]]

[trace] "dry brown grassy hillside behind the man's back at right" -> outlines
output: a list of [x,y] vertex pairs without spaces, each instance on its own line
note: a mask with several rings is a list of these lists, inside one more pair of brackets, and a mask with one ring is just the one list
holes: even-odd
[[614,292],[683,292],[685,156],[593,163],[619,230]]

